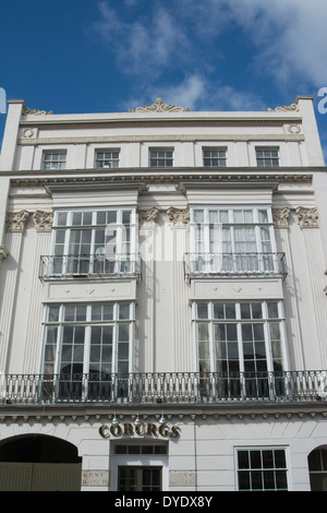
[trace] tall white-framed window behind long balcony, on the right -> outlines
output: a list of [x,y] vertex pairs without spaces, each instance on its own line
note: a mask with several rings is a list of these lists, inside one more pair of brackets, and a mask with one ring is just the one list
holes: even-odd
[[194,302],[193,320],[203,395],[283,395],[284,326],[280,301]]

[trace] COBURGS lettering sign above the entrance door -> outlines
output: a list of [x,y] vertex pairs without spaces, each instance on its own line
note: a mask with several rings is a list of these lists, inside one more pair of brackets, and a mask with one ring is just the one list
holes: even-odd
[[167,423],[141,423],[138,426],[133,426],[133,423],[112,423],[110,426],[102,425],[99,428],[99,433],[102,438],[132,437],[134,434],[140,437],[178,438],[180,431],[179,426],[167,426]]

